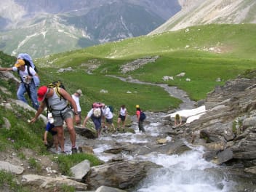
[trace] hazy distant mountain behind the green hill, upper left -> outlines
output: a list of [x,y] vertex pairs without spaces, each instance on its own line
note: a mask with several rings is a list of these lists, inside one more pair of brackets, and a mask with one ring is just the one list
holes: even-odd
[[32,57],[145,35],[180,10],[177,0],[0,1],[0,49]]

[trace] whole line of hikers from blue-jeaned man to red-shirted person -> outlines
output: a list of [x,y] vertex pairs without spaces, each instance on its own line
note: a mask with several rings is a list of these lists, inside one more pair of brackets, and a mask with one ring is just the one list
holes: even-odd
[[[17,61],[12,68],[0,68],[0,71],[16,71],[20,76],[17,99],[28,103],[25,99],[25,92],[27,92],[28,97],[32,101],[33,108],[36,109],[35,116],[33,119],[29,120],[30,123],[34,123],[36,119],[39,118],[40,114],[43,113],[44,109],[47,108],[48,122],[44,132],[44,144],[48,144],[47,134],[50,132],[56,150],[58,151],[58,146],[60,146],[61,153],[65,153],[63,129],[65,122],[70,135],[71,151],[72,153],[77,153],[74,124],[81,126],[81,106],[79,104],[79,97],[82,95],[81,89],[78,89],[73,95],[70,95],[63,87],[39,87],[40,80],[39,75],[36,73],[36,67],[33,65],[30,55],[26,53],[18,55]],[[38,87],[39,89],[37,90]],[[140,110],[139,105],[135,107],[139,130],[140,132],[145,132],[143,127],[145,113]],[[125,108],[125,105],[121,105],[117,120],[117,130],[122,128],[124,131],[127,114],[127,108]],[[108,127],[111,131],[116,132],[116,128],[113,124],[113,111],[111,111],[110,106],[104,103],[92,104],[92,109],[87,113],[83,121],[83,127],[85,127],[89,119],[92,119],[95,125],[97,137],[100,137],[102,129],[107,131]],[[105,123],[107,127],[105,127]]]

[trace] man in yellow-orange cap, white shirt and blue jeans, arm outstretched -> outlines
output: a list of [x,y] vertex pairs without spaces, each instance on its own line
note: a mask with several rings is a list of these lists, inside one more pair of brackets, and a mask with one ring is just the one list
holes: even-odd
[[[28,72],[29,70],[29,72]],[[36,96],[36,84],[33,81],[33,76],[37,76],[36,71],[25,65],[25,61],[18,59],[12,68],[0,68],[0,71],[16,71],[20,76],[20,86],[17,89],[17,99],[22,100],[24,103],[28,103],[25,99],[25,92],[28,92],[28,97],[32,101],[32,106],[36,110],[39,108],[39,102]]]

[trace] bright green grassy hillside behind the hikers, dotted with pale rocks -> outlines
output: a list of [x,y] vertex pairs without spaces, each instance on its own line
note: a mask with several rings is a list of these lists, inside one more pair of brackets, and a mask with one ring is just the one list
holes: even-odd
[[[177,107],[180,102],[170,99],[162,89],[128,84],[105,75],[132,76],[140,81],[167,83],[188,92],[192,100],[201,100],[216,85],[255,68],[255,32],[256,25],[253,24],[202,25],[50,55],[36,63],[40,63],[41,71],[47,71],[47,81],[63,79],[67,84],[72,83],[71,91],[84,89],[89,102],[103,100],[117,106],[122,103],[131,106],[140,103],[148,110],[166,111]],[[121,65],[137,58],[156,55],[159,56],[156,62],[129,73],[121,73]],[[93,74],[89,75],[87,71],[92,65],[97,65],[97,68],[90,70]],[[55,73],[56,68],[60,67],[71,67],[75,71]],[[52,71],[54,78],[50,73]],[[185,76],[177,77],[181,72],[185,72]],[[163,76],[173,76],[174,81],[163,81]],[[187,78],[191,81],[185,81]],[[221,81],[216,82],[217,78]],[[101,94],[100,89],[109,92]],[[129,96],[126,93],[128,90],[132,92]],[[155,94],[161,95],[161,100]]]

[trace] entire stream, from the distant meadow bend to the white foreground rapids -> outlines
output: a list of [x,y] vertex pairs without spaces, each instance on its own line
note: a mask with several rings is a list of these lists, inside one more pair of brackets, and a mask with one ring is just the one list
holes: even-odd
[[[122,79],[123,81],[125,79]],[[133,80],[135,81],[135,80]],[[138,82],[137,82],[138,83]],[[141,83],[141,82],[140,82]],[[180,109],[193,108],[194,102],[186,97],[185,93],[177,88],[167,87],[166,85],[159,85],[169,92],[170,95],[183,100]],[[175,90],[175,94],[172,92]],[[180,93],[181,92],[181,93]],[[180,97],[179,97],[180,93]],[[132,114],[132,111],[129,111]],[[77,145],[91,145],[93,151],[99,159],[107,162],[115,158],[116,154],[104,153],[107,149],[114,148],[113,143],[121,143],[121,145],[140,145],[147,147],[151,143],[156,143],[156,139],[164,132],[164,124],[162,124],[164,116],[167,113],[148,113],[145,124],[146,134],[139,132],[135,122],[135,116],[130,116],[134,123],[132,128],[135,134],[132,133],[115,133],[113,135],[102,135],[96,140],[88,140],[87,138],[77,137]],[[68,135],[66,135],[68,138]],[[166,137],[169,143],[172,143],[172,137]],[[137,161],[152,161],[162,166],[162,168],[154,169],[150,176],[141,180],[140,184],[133,189],[134,192],[229,192],[240,191],[238,181],[234,181],[225,167],[220,167],[211,162],[204,160],[204,148],[201,146],[193,146],[188,141],[183,141],[190,151],[184,153],[167,155],[161,151],[151,151],[151,153],[140,155],[131,155],[129,153],[122,153],[121,158],[126,160]],[[69,148],[68,140],[65,142],[65,148]],[[69,146],[68,146],[69,145]],[[243,190],[244,191],[244,190]]]

